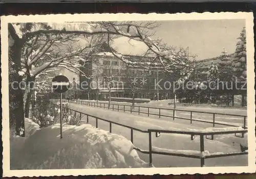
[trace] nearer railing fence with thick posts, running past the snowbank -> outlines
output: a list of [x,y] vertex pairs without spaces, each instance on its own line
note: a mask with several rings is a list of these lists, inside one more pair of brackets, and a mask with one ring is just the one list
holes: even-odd
[[[55,105],[57,105],[57,104],[53,103],[53,105],[54,105],[54,108],[55,108]],[[59,105],[57,105],[57,106],[59,107]],[[242,137],[244,137],[244,133],[247,133],[246,129],[230,130],[230,131],[210,131],[210,132],[205,132],[205,131],[182,131],[182,130],[160,130],[160,129],[141,130],[139,128],[123,125],[123,124],[120,124],[120,123],[117,123],[117,122],[113,122],[113,121],[110,121],[110,120],[98,118],[98,117],[93,116],[93,115],[82,113],[78,110],[70,109],[70,108],[67,108],[67,107],[62,107],[62,108],[64,108],[66,110],[66,112],[70,111],[70,115],[72,115],[72,111],[73,111],[75,116],[76,116],[76,113],[79,114],[80,115],[80,120],[82,119],[82,115],[87,116],[87,123],[89,123],[89,117],[95,118],[96,128],[98,128],[98,120],[109,122],[109,131],[110,132],[112,132],[112,124],[119,125],[119,126],[122,126],[122,127],[125,127],[125,128],[129,128],[129,129],[131,129],[131,142],[132,143],[133,143],[133,132],[134,132],[134,130],[139,131],[139,132],[143,132],[143,133],[148,133],[148,145],[149,145],[148,148],[149,148],[149,150],[142,150],[142,149],[136,148],[136,147],[134,149],[141,152],[141,153],[149,154],[150,167],[153,166],[152,154],[173,155],[173,156],[181,156],[181,157],[185,157],[185,158],[200,159],[201,167],[204,167],[205,159],[248,154],[248,151],[232,152],[232,153],[226,153],[226,154],[224,154],[224,153],[205,154],[205,151],[204,151],[204,146],[205,146],[204,145],[204,136],[206,137],[206,139],[209,139],[209,138],[207,138],[207,136],[211,136],[210,140],[214,140],[214,135],[226,135],[226,134],[234,133],[236,137],[240,137],[240,136],[237,136],[237,133],[241,133]],[[190,135],[191,140],[194,140],[195,136],[200,136],[200,151],[186,152],[188,150],[177,151],[177,150],[168,150],[168,149],[161,149],[161,148],[153,147],[152,146],[152,132],[155,132],[156,135],[157,135],[158,132],[160,132],[160,133],[176,133],[176,134],[180,134],[180,135]]]

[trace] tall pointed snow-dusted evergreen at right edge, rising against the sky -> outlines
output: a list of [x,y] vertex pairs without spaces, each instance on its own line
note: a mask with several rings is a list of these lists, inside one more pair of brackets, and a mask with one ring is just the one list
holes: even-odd
[[234,77],[239,81],[246,80],[246,30],[245,27],[238,38],[234,62],[232,64]]

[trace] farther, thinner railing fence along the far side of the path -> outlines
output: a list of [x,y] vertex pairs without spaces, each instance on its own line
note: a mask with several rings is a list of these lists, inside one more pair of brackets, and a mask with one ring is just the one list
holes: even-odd
[[[66,100],[66,102],[68,102],[68,101]],[[91,106],[91,107],[100,107],[100,108],[104,108],[104,109],[112,109],[112,110],[117,110],[117,111],[123,111],[123,112],[129,111],[131,114],[132,113],[138,113],[139,115],[140,114],[147,114],[148,117],[150,115],[155,115],[155,116],[159,116],[159,118],[161,118],[161,117],[170,117],[170,118],[173,118],[173,120],[175,120],[175,119],[189,120],[190,124],[192,124],[193,121],[203,122],[203,123],[210,123],[210,124],[212,124],[213,127],[215,127],[215,125],[240,127],[239,125],[233,125],[233,124],[230,124],[230,123],[216,122],[216,116],[217,115],[230,116],[230,117],[241,117],[241,118],[243,118],[242,127],[244,129],[247,129],[247,127],[246,127],[247,116],[244,116],[244,115],[232,115],[232,114],[224,114],[224,113],[210,113],[210,112],[205,112],[205,111],[193,111],[193,110],[184,110],[184,109],[169,109],[169,108],[147,107],[147,106],[138,106],[138,105],[136,105],[136,106],[124,105],[124,104],[111,104],[111,105],[109,105],[108,103],[90,102],[90,101],[82,101],[82,100],[69,100],[69,102],[82,104],[82,105],[87,105],[87,106]],[[135,108],[137,108],[138,110],[135,110]],[[147,109],[147,110],[143,111],[141,109]],[[152,109],[155,109],[155,110],[157,109],[158,113],[151,113]],[[164,111],[172,111],[173,115],[172,116],[164,115],[163,113],[161,113],[161,112],[164,112]],[[177,116],[175,116],[176,111],[183,111],[183,112],[190,113],[190,118],[177,117]],[[212,121],[193,119],[192,116],[193,116],[193,114],[196,114],[196,113],[212,115]]]

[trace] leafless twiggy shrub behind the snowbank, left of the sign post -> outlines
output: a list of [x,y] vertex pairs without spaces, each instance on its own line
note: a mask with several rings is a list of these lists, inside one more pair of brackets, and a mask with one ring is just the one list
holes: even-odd
[[51,103],[41,101],[32,109],[32,120],[40,127],[47,127],[56,123],[58,113],[59,109],[54,108]]

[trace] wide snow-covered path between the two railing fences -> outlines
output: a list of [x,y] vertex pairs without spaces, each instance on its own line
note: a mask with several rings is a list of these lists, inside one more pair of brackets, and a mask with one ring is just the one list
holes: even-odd
[[[193,122],[191,125],[189,121],[186,120],[170,120],[170,119],[154,119],[148,118],[145,116],[138,116],[138,114],[126,113],[97,108],[97,107],[88,107],[85,105],[79,105],[70,103],[70,108],[81,111],[89,115],[96,116],[98,118],[108,119],[113,122],[120,124],[128,125],[131,127],[136,127],[142,130],[147,130],[148,128],[156,129],[205,129],[211,127],[211,124]],[[82,117],[82,120],[86,122],[86,116]],[[95,124],[95,118],[89,117],[89,123],[92,125]],[[223,127],[223,126],[222,126]],[[98,128],[103,130],[109,130],[109,123],[98,120]],[[131,129],[112,124],[112,132],[118,135],[122,135],[127,139],[131,139]],[[138,148],[148,150],[148,134],[141,133],[139,131],[134,131],[134,145]],[[161,133],[159,138],[155,138],[153,135],[152,138],[153,146],[167,148],[167,149],[176,149],[176,150],[199,150],[200,143],[199,138],[196,137],[194,141],[190,140],[188,135],[169,135]],[[205,139],[205,150],[212,152],[240,152],[240,143],[247,144],[247,135],[245,138],[237,138],[234,135],[219,135],[215,136],[215,140]],[[140,152],[139,156],[145,162],[149,161],[148,154],[142,154]],[[239,161],[239,162],[238,162]],[[247,165],[247,155],[240,156],[228,156],[224,158],[215,158],[207,159],[205,161],[206,166],[245,166]],[[200,160],[198,159],[189,159],[182,158],[178,156],[166,156],[166,155],[157,155],[153,154],[153,165],[155,167],[198,167],[200,166]]]

